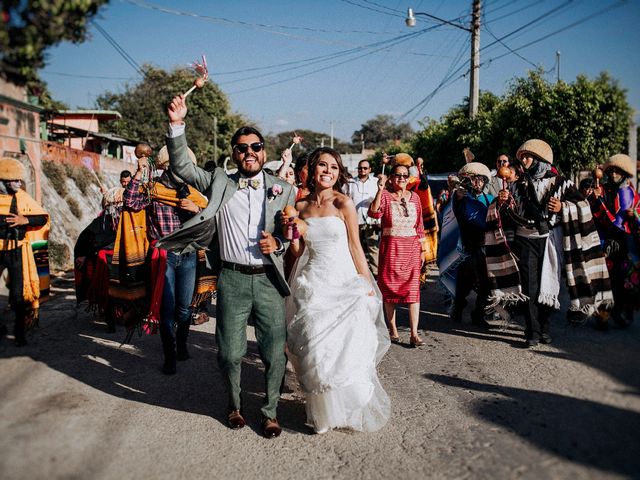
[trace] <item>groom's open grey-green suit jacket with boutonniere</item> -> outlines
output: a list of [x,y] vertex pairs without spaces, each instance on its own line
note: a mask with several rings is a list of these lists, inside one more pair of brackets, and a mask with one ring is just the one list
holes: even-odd
[[[215,216],[238,190],[239,175],[227,175],[222,168],[208,172],[193,164],[187,154],[186,136],[167,138],[169,163],[171,170],[189,185],[200,191],[209,199],[207,207],[182,224],[173,233],[162,237],[158,246],[167,250],[189,252],[201,248],[209,248],[216,231]],[[264,219],[265,231],[278,238],[282,245],[288,242],[282,236],[280,212],[287,205],[295,204],[295,191],[291,185],[265,172],[265,203]],[[282,193],[275,195],[273,186],[280,185]],[[276,267],[277,285],[279,292],[289,295],[289,285],[284,278],[283,255],[272,253],[269,258]]]

